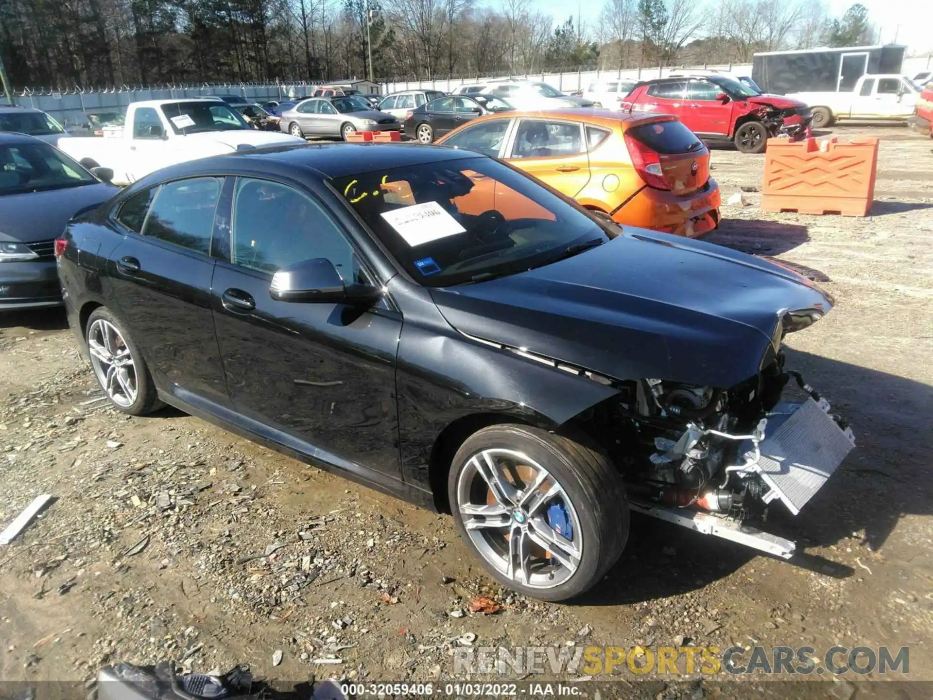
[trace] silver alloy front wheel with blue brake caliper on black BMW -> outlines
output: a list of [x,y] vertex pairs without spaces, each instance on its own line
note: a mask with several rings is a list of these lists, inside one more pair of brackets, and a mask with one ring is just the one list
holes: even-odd
[[[460,472],[456,494],[469,539],[512,581],[553,588],[576,573],[583,555],[577,511],[564,487],[535,460],[513,450],[483,450]],[[564,506],[570,538],[548,522],[549,504]]]

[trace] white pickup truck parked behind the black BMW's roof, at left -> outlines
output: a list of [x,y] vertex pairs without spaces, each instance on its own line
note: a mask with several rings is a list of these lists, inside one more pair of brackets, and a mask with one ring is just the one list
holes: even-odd
[[59,148],[86,167],[110,168],[115,184],[128,185],[168,165],[241,147],[302,143],[287,133],[252,129],[222,100],[198,97],[133,102],[122,130],[104,138],[63,138]]

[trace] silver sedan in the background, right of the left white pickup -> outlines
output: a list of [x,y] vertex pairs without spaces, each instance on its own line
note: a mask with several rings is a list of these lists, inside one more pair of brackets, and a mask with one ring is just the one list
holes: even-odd
[[282,113],[279,128],[293,136],[342,138],[355,132],[397,132],[398,119],[373,109],[359,95],[313,97]]

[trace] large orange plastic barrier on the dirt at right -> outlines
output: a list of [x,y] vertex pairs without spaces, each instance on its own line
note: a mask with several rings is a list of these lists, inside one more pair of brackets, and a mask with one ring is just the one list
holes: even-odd
[[878,139],[768,140],[761,208],[768,212],[867,217],[874,199]]

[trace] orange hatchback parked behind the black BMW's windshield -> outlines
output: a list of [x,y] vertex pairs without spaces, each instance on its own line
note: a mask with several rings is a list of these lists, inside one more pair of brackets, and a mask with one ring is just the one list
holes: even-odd
[[509,111],[437,143],[508,161],[620,224],[692,237],[719,223],[709,150],[671,115]]

